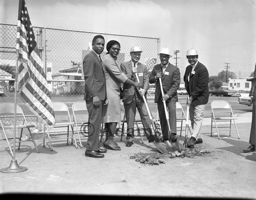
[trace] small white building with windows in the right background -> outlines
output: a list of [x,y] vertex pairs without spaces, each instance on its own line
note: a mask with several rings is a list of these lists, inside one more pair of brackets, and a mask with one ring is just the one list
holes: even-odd
[[[248,78],[249,79],[249,78]],[[251,81],[247,81],[247,79],[228,79],[228,90],[251,90]]]

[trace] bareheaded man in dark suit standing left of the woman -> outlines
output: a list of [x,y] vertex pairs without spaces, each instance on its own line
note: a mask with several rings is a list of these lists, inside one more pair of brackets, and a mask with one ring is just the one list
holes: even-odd
[[104,50],[105,40],[96,35],[92,41],[92,51],[83,59],[84,100],[89,113],[89,137],[85,155],[93,158],[103,158],[106,149],[99,148],[99,135],[102,120],[102,107],[106,99],[106,80],[104,66],[100,54]]

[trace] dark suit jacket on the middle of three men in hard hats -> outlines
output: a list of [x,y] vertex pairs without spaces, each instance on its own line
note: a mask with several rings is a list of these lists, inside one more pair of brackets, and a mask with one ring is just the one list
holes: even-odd
[[[150,83],[156,83],[155,103],[162,101],[159,99],[161,95],[161,86],[159,80],[156,81],[156,74],[161,72],[161,64],[155,65],[150,73]],[[177,90],[180,86],[180,69],[172,64],[168,64],[164,74],[162,74],[162,86],[164,94],[168,94],[170,98],[167,101],[178,101]]]

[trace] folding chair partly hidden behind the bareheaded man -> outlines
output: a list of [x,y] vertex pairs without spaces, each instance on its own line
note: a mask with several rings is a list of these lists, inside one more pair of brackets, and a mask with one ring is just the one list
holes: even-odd
[[[81,144],[81,140],[80,140],[80,136],[79,134],[82,134],[83,137],[88,137],[88,135],[86,135],[87,132],[87,125],[88,125],[88,110],[86,107],[86,102],[75,102],[72,105],[72,112],[73,112],[73,120],[75,122],[75,126],[76,126],[76,131],[79,137],[79,141],[80,141],[80,145],[81,147],[83,147],[83,145]],[[80,131],[79,128],[80,127]],[[83,128],[83,130],[81,130]]]

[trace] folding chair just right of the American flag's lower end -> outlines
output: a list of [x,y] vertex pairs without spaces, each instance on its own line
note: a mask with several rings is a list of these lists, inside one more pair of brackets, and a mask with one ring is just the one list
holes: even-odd
[[[69,145],[69,139],[71,138],[71,144],[73,144],[73,139],[74,139],[75,147],[78,148],[76,143],[75,133],[74,133],[75,122],[71,121],[68,106],[63,102],[53,102],[52,105],[53,105],[53,110],[55,115],[55,124],[51,129],[49,129],[48,126],[45,126],[47,135],[49,138],[51,151],[53,151],[51,140],[63,139],[63,137],[55,137],[51,139],[51,136],[67,135],[67,145]],[[69,128],[71,128],[72,130],[71,137],[69,137]],[[45,137],[46,135],[45,135],[45,129],[44,129],[43,145],[42,145],[43,147],[45,147]]]

